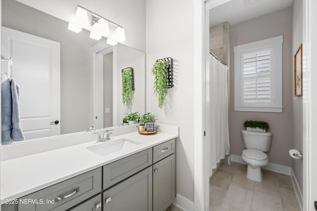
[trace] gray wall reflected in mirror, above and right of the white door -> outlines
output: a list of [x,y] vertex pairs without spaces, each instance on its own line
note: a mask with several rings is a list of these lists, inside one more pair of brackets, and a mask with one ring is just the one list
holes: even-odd
[[68,23],[15,0],[2,0],[2,26],[60,42],[61,134],[92,126],[89,33],[69,31]]

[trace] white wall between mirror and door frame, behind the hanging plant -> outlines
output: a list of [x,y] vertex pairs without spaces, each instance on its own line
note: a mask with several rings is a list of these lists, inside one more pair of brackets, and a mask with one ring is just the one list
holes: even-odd
[[[176,193],[194,201],[194,5],[193,0],[146,1],[146,108],[158,123],[179,127],[176,139]],[[153,93],[157,59],[174,59],[174,87],[163,110]]]

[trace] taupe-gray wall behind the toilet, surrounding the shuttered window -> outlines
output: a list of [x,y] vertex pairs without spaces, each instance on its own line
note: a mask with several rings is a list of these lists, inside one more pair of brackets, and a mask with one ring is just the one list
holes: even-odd
[[[234,54],[236,45],[283,35],[283,113],[234,111]],[[288,150],[293,143],[293,80],[292,80],[292,8],[257,17],[230,28],[230,151],[240,155],[244,149],[241,129],[246,120],[268,122],[273,133],[268,154],[270,163],[291,167]]]

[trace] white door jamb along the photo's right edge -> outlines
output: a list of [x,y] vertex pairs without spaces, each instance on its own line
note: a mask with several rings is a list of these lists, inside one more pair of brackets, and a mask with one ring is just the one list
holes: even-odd
[[[316,0],[303,0],[303,210],[314,211],[317,201],[317,29],[313,20],[317,19]],[[315,60],[314,60],[315,59]],[[314,178],[314,179],[313,179]]]

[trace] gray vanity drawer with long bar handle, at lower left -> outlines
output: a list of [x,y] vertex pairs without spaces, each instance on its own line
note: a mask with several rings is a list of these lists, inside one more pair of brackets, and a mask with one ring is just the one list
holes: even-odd
[[101,182],[101,168],[88,171],[20,198],[18,210],[65,211],[101,192]]

